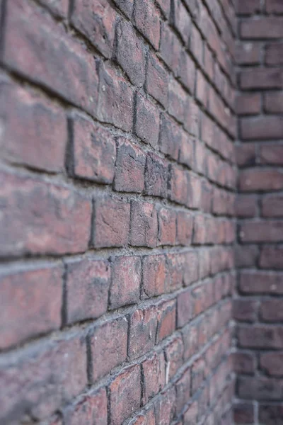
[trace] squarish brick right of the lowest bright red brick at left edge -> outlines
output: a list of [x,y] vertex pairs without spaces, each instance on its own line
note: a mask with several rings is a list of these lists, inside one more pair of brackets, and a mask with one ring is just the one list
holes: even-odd
[[109,287],[108,262],[91,258],[67,261],[67,323],[105,313]]

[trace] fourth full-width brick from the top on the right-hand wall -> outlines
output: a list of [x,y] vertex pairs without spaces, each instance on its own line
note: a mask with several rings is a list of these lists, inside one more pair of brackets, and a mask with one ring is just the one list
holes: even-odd
[[241,191],[278,191],[283,188],[283,173],[277,170],[248,169],[239,179]]

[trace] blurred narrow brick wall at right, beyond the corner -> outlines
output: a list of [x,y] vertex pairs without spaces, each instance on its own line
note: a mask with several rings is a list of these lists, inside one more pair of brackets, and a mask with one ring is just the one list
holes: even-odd
[[283,2],[238,4],[236,424],[283,418]]

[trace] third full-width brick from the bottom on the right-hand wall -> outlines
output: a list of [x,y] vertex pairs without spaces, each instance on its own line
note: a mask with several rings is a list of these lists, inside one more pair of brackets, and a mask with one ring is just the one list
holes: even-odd
[[[270,248],[267,247],[268,251]],[[268,251],[265,255],[268,255]],[[272,256],[272,249],[270,252],[270,258]],[[264,256],[262,256],[264,259]],[[272,264],[267,264],[272,267]],[[283,275],[281,273],[265,272],[265,271],[242,271],[240,274],[239,288],[243,293],[250,294],[275,294],[283,295],[283,288],[281,288],[280,282],[282,281]]]

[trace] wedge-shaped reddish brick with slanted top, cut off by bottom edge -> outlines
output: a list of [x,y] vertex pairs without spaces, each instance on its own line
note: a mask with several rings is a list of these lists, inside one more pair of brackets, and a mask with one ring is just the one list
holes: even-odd
[[89,392],[64,409],[64,421],[69,425],[107,425],[107,395],[105,388]]

